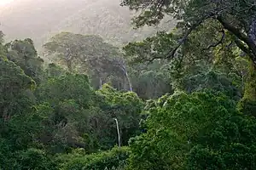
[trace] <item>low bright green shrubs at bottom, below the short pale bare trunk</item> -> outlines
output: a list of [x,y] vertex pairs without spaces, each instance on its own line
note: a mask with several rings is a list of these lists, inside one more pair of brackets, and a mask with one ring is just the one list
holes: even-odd
[[129,154],[127,147],[114,147],[112,150],[90,155],[85,155],[83,150],[73,150],[70,154],[58,156],[57,160],[61,170],[102,170],[123,165]]

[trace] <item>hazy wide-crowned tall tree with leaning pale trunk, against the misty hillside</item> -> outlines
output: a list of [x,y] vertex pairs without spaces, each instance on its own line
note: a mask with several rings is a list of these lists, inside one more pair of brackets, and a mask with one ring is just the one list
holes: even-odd
[[[131,82],[121,59],[119,48],[104,42],[102,37],[61,32],[44,44],[48,54],[54,54],[68,71],[86,72],[98,79],[98,87],[103,80],[108,81],[110,75],[125,77],[131,91]],[[124,82],[123,82],[124,83]]]

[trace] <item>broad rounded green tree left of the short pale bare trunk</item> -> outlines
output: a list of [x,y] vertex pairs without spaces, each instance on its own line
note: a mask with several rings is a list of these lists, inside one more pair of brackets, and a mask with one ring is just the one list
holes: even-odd
[[[93,106],[95,94],[87,76],[66,73],[51,77],[37,89],[37,97],[39,102],[47,102],[45,109],[48,108],[47,115],[38,122],[41,124],[44,117],[47,120],[41,142],[51,146],[54,152],[62,152],[68,147],[91,150],[87,145],[90,141],[84,141],[82,134],[90,132],[90,116],[98,110]],[[37,110],[42,108],[38,106]]]

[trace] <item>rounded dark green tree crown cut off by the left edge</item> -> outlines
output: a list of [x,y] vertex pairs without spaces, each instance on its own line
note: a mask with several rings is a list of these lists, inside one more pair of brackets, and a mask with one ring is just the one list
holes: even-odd
[[7,120],[29,106],[24,92],[35,88],[35,82],[7,59],[0,59],[0,73],[0,115]]

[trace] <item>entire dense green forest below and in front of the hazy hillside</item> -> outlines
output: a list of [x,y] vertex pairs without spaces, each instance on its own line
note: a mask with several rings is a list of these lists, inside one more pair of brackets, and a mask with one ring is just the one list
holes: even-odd
[[119,6],[150,35],[0,31],[0,170],[256,169],[255,0]]

